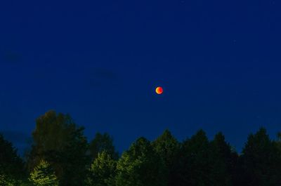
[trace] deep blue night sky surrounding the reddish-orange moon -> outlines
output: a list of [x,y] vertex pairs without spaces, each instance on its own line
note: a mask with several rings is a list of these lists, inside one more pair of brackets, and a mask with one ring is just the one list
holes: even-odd
[[274,0],[1,1],[0,131],[22,148],[55,109],[119,151],[165,128],[239,151],[260,126],[274,138],[280,21]]

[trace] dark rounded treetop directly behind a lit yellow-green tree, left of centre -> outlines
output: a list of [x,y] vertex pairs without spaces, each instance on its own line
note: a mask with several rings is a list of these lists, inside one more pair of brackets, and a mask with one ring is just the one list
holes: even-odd
[[113,138],[109,134],[96,133],[95,138],[90,143],[91,157],[96,159],[98,153],[106,151],[107,154],[113,159],[118,159],[118,152],[115,151],[115,146],[113,145]]

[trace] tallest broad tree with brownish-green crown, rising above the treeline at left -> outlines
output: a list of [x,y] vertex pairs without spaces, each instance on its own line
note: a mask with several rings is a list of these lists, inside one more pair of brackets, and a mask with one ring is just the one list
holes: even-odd
[[49,161],[48,157],[55,157],[55,152],[64,150],[70,140],[70,133],[75,129],[76,126],[69,115],[49,111],[39,117],[32,133],[33,144],[28,158],[30,170],[39,164],[41,159]]

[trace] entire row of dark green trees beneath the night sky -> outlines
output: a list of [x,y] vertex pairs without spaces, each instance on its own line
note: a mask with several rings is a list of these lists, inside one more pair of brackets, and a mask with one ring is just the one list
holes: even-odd
[[[237,136],[239,138],[239,136]],[[36,121],[25,159],[0,135],[0,185],[36,186],[280,186],[281,134],[250,134],[241,154],[222,133],[200,130],[178,142],[169,131],[138,138],[121,156],[107,133],[88,142],[67,114]]]

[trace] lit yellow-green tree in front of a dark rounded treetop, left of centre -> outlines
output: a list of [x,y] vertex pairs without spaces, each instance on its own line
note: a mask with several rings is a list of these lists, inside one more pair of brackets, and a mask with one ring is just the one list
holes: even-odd
[[116,174],[117,162],[107,152],[98,153],[98,157],[91,164],[87,185],[112,185]]

